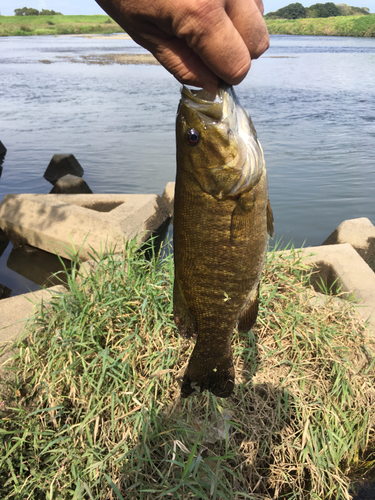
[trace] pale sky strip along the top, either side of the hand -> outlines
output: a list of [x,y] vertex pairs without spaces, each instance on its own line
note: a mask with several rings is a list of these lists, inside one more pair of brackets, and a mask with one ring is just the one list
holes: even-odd
[[[152,1],[152,0],[150,0]],[[263,0],[265,13],[273,12],[298,0]],[[326,3],[329,0],[299,0],[299,3],[309,7],[314,3]],[[375,13],[375,0],[332,0],[334,3],[347,3],[354,7],[368,7]],[[0,14],[14,16],[14,9],[32,7],[34,9],[55,10],[62,14],[103,14],[103,10],[95,0],[0,0]]]

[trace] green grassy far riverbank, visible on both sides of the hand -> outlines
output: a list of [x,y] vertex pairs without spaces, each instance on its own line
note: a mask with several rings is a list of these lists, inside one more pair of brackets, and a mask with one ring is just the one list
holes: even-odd
[[[308,19],[266,20],[271,35],[375,36],[375,14]],[[0,16],[0,36],[121,33],[106,15]]]

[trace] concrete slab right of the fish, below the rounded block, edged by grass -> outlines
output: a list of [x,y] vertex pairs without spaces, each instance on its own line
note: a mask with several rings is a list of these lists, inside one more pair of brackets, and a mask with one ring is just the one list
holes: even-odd
[[369,332],[375,340],[375,273],[369,265],[349,243],[307,247],[303,254],[309,255],[308,261],[317,268],[316,289],[322,279],[328,288],[340,285],[344,296],[354,293],[359,303],[357,310],[364,320],[369,320]]

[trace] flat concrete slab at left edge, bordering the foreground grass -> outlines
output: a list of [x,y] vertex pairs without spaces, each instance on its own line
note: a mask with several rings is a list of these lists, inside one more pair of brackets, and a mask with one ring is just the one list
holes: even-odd
[[17,295],[0,301],[0,375],[4,363],[14,354],[14,343],[21,337],[27,322],[35,315],[38,305],[66,292],[61,286]]

